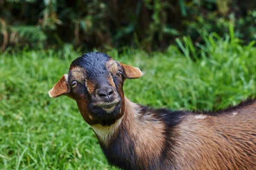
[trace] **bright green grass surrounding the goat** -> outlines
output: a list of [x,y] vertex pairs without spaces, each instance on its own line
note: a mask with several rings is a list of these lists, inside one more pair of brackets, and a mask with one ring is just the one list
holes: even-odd
[[[204,39],[200,49],[184,37],[177,40],[181,51],[170,46],[163,53],[108,54],[143,71],[142,78],[126,80],[124,86],[125,95],[140,104],[216,110],[256,94],[254,42],[241,45],[232,34]],[[0,169],[115,169],[76,102],[48,96],[79,55],[68,49],[9,50],[0,55]]]

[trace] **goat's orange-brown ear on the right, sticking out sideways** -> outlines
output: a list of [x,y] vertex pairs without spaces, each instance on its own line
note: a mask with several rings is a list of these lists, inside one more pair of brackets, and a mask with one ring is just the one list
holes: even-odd
[[122,68],[124,69],[124,76],[127,79],[137,79],[140,78],[142,76],[142,72],[140,71],[140,68],[137,67],[133,67],[131,65],[126,65],[121,63]]

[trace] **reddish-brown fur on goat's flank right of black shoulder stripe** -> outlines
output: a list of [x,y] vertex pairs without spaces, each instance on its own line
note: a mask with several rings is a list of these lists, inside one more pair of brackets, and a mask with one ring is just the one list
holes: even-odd
[[256,105],[197,119],[190,114],[175,129],[175,165],[183,170],[256,169]]

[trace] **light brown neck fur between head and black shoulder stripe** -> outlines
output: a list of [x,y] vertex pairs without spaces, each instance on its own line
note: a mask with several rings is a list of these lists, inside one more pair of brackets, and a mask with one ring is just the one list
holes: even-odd
[[139,107],[125,97],[124,126],[128,129],[131,139],[135,140],[135,153],[142,160],[144,167],[149,168],[148,161],[152,157],[160,156],[163,150],[164,125],[160,121],[151,124],[148,120],[154,119],[149,113],[143,119],[139,119]]

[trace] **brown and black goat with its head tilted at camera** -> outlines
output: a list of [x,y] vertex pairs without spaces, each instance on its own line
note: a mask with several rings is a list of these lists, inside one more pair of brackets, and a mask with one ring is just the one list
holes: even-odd
[[109,164],[124,170],[256,170],[256,102],[219,113],[152,109],[124,96],[142,76],[108,54],[75,59],[49,91],[75,99]]

